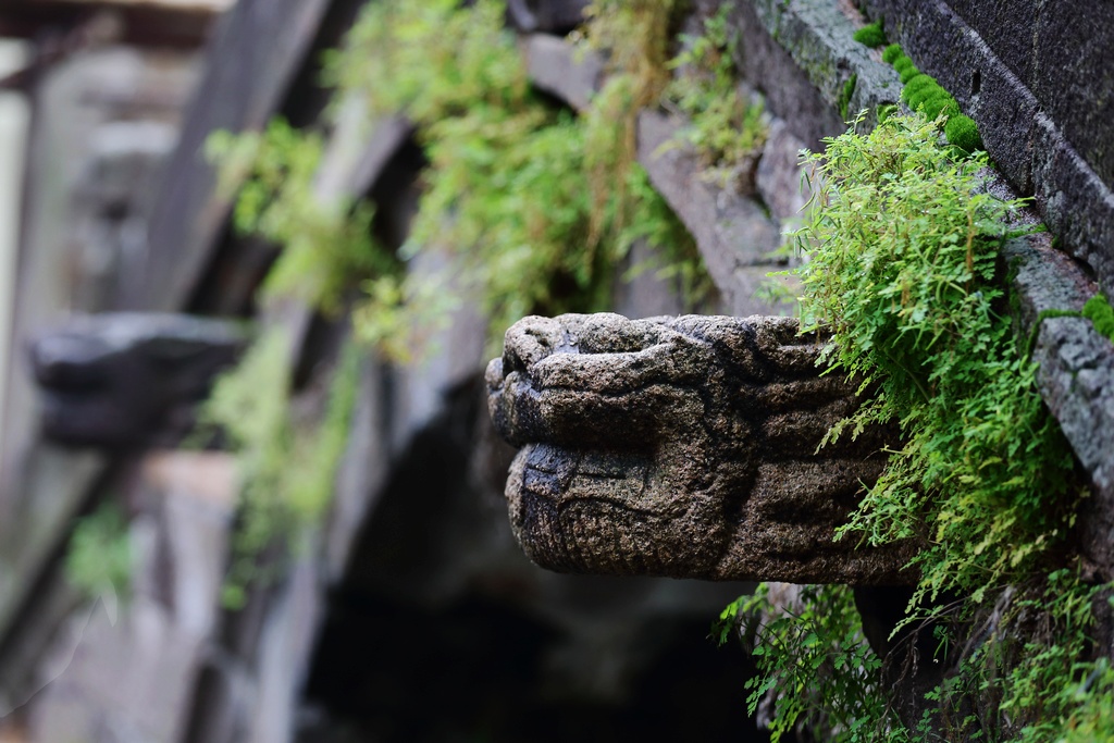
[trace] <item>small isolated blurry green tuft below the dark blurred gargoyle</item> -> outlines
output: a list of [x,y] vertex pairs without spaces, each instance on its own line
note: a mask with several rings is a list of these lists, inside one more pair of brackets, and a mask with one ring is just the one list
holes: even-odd
[[66,580],[88,599],[130,595],[131,539],[114,504],[78,519],[66,553]]

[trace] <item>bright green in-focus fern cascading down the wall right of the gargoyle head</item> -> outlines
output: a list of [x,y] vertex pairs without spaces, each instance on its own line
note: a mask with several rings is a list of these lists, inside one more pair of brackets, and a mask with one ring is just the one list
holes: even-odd
[[[869,135],[852,127],[827,145],[809,158],[822,180],[797,234],[809,255],[803,323],[833,333],[833,373],[876,390],[829,438],[885,420],[905,436],[841,537],[925,540],[906,624],[938,623],[936,661],[954,668],[928,700],[931,724],[907,730],[862,705],[831,740],[1054,741],[1103,730],[1095,710],[1114,675],[1089,638],[1103,588],[1081,579],[1065,541],[1084,490],[1004,315],[997,251],[1017,205],[978,193],[985,156],[954,157],[920,116],[891,116]],[[797,622],[760,632],[760,647],[782,648],[756,658],[769,688],[794,693],[779,685],[785,674],[805,676],[797,688],[877,688],[860,673],[874,664],[861,644],[820,625],[801,639]],[[817,664],[815,646],[844,659]],[[812,724],[807,708],[781,713],[775,730]],[[1114,740],[1105,730],[1095,740]]]

